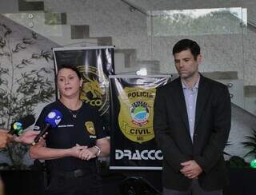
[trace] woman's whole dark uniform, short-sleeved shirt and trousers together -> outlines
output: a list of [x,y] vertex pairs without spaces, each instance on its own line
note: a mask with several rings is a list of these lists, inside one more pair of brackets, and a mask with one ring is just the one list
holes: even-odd
[[[70,149],[76,144],[92,147],[97,139],[106,137],[98,111],[86,103],[82,103],[81,108],[75,111],[66,108],[61,101],[46,105],[34,126],[35,130],[46,126],[45,117],[52,109],[58,109],[62,113],[62,120],[46,136],[47,147]],[[47,194],[102,194],[96,161],[96,158],[83,161],[77,157],[46,160],[50,173]]]

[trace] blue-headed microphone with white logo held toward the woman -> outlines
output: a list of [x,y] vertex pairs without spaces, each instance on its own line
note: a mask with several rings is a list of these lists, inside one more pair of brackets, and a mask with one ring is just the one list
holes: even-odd
[[34,138],[34,142],[32,143],[32,145],[36,145],[40,137],[42,137],[46,132],[48,132],[50,128],[55,128],[61,120],[62,113],[57,109],[52,109],[45,118],[46,127],[40,131],[37,137]]

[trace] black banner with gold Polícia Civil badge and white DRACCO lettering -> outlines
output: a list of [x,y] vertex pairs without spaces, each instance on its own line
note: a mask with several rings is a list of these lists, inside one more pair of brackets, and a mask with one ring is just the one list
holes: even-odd
[[162,169],[153,129],[157,86],[166,76],[110,76],[110,169]]

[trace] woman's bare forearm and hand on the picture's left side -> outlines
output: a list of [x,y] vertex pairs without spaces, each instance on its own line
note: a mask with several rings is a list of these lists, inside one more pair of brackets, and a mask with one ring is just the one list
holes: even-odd
[[82,149],[86,146],[75,145],[70,149],[52,149],[46,147],[45,141],[41,138],[37,145],[30,147],[30,157],[39,160],[51,160],[61,157],[79,157]]

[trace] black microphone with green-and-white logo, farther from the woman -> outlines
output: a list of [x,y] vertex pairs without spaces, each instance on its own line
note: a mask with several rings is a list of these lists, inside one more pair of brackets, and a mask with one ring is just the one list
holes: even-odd
[[27,115],[26,117],[22,117],[18,121],[14,121],[10,125],[10,131],[8,132],[11,135],[19,136],[22,134],[23,130],[28,128],[30,125],[33,125],[35,121],[35,118],[33,115]]

